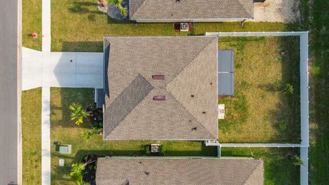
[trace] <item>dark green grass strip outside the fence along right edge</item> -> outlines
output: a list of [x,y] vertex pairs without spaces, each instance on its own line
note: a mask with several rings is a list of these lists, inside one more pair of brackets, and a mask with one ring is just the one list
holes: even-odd
[[329,173],[329,1],[300,5],[302,29],[309,30],[310,184],[328,184]]

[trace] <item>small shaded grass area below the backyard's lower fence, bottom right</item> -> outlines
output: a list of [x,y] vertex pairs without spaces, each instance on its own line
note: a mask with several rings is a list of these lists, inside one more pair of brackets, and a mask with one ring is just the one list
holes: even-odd
[[221,148],[221,156],[251,157],[264,160],[265,184],[300,184],[300,167],[287,159],[287,154],[299,155],[292,148]]

